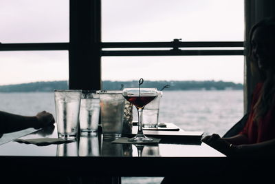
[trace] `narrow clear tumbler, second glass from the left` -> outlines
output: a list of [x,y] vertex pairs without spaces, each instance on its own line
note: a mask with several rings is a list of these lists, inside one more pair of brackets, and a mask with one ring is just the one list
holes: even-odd
[[100,114],[99,95],[96,91],[83,90],[80,104],[80,132],[96,134]]

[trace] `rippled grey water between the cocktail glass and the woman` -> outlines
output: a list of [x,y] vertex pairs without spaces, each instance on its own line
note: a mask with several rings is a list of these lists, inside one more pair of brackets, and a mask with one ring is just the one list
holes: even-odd
[[[144,112],[145,113],[145,112]],[[175,123],[187,131],[221,136],[243,116],[243,91],[164,91],[159,122]],[[137,121],[137,110],[133,110]]]

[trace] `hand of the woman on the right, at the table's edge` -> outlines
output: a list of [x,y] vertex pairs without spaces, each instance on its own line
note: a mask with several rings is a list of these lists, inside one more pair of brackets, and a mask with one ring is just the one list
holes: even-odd
[[203,139],[201,139],[201,141],[227,156],[234,154],[234,146],[228,143],[228,141],[222,139],[218,134],[205,136]]

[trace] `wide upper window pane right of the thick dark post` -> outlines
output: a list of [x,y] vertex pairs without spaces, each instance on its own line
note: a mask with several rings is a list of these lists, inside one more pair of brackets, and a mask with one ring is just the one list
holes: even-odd
[[243,41],[243,6],[238,0],[102,0],[102,41]]

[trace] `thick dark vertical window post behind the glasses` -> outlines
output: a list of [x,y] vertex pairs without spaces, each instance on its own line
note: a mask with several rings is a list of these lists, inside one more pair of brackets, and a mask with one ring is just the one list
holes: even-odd
[[100,0],[69,0],[69,89],[101,89]]

